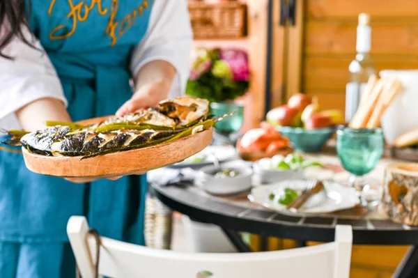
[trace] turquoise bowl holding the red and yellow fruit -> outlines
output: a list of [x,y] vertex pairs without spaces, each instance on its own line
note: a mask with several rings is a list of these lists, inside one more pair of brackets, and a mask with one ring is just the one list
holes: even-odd
[[335,128],[305,130],[288,126],[277,126],[277,130],[291,140],[295,150],[305,153],[319,153],[335,132]]

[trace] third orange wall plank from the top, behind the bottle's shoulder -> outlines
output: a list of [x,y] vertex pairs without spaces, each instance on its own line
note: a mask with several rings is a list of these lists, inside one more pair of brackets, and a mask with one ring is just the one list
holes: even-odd
[[[374,58],[372,56],[372,58]],[[312,57],[304,59],[302,89],[305,93],[327,92],[344,93],[348,82],[348,65],[352,58],[337,56]],[[373,59],[378,70],[417,69],[418,56],[399,59],[398,56],[377,57]]]

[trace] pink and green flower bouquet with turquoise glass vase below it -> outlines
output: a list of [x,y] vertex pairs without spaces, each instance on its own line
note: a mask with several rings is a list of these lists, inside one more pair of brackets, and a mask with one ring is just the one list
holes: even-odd
[[244,107],[233,100],[245,95],[249,88],[247,53],[240,49],[198,48],[195,54],[187,95],[209,100],[210,113],[215,116],[233,112],[215,129],[228,136],[238,132],[244,123]]

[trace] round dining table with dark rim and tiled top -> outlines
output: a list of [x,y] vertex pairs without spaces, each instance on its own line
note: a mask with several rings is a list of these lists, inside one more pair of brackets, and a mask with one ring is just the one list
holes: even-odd
[[[302,155],[324,165],[318,171],[318,178],[339,183],[348,180],[348,173],[341,167],[332,146],[321,153]],[[398,161],[383,157],[367,177],[380,186],[385,166],[392,162]],[[168,170],[158,171],[159,175],[164,175],[164,171]],[[187,215],[196,222],[219,226],[239,252],[253,252],[243,240],[242,233],[260,235],[261,251],[266,251],[268,237],[295,240],[300,247],[306,246],[308,241],[332,242],[335,226],[345,224],[352,226],[353,245],[410,246],[393,277],[418,277],[418,227],[392,222],[378,211],[378,206],[355,206],[332,213],[292,215],[251,202],[249,191],[219,196],[209,194],[189,181],[166,184],[151,182],[150,187],[153,196],[171,210]]]

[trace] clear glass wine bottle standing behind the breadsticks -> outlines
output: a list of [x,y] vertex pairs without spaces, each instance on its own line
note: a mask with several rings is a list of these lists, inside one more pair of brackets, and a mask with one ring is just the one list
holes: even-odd
[[349,82],[346,85],[346,123],[353,118],[359,101],[362,98],[362,92],[370,77],[376,73],[376,68],[370,56],[371,49],[371,27],[370,16],[366,13],[359,15],[357,25],[357,41],[355,59],[348,66],[350,72]]

